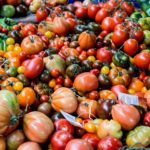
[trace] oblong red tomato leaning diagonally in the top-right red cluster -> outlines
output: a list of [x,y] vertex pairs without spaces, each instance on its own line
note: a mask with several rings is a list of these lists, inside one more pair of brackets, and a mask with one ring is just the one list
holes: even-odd
[[107,9],[105,8],[102,8],[100,9],[97,13],[96,13],[96,16],[95,16],[95,21],[97,23],[101,23],[103,21],[104,18],[108,17],[109,16],[109,12]]

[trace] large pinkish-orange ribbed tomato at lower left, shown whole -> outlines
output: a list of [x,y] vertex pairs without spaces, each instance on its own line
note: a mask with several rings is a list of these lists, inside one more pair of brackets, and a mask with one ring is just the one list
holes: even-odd
[[23,130],[29,140],[44,143],[53,132],[54,125],[45,114],[32,111],[24,116]]

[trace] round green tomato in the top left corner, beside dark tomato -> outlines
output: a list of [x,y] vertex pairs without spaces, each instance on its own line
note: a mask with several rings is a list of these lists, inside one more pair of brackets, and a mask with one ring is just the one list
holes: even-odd
[[0,15],[2,17],[8,17],[11,18],[13,17],[15,14],[15,7],[12,5],[4,5],[2,6],[2,8],[0,9]]

